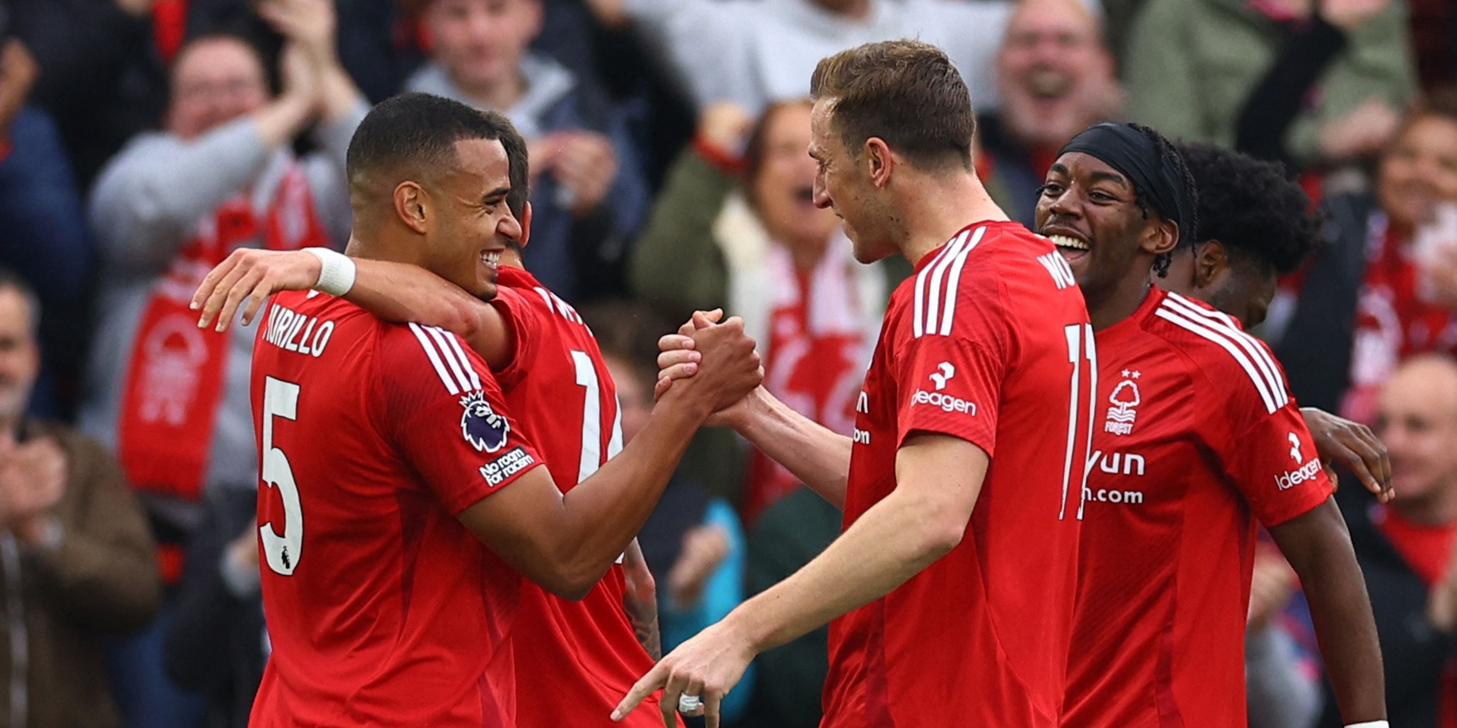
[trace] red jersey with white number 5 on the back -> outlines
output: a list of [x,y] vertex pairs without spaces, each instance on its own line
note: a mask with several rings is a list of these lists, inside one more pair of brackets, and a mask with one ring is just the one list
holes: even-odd
[[274,297],[254,347],[272,655],[249,725],[514,727],[525,581],[455,514],[539,464],[455,335]]

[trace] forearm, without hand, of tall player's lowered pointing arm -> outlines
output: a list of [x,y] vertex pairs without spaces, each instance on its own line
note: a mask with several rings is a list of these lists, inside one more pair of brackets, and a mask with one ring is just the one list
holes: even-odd
[[[793,577],[734,609],[755,652],[797,639],[889,594],[950,552],[965,533],[934,499],[898,489]],[[950,526],[950,527],[940,527]]]

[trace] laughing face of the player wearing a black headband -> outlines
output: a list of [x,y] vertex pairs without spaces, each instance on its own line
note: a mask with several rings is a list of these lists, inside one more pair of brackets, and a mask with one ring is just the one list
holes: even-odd
[[1036,229],[1058,246],[1088,307],[1123,285],[1142,285],[1154,258],[1173,248],[1154,210],[1138,207],[1132,182],[1081,151],[1058,157],[1037,198]]

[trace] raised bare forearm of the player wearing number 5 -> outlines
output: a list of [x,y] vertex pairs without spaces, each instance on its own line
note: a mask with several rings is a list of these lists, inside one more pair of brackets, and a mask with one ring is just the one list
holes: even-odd
[[590,588],[627,550],[707,418],[702,397],[664,397],[622,453],[562,496],[555,550],[570,581]]

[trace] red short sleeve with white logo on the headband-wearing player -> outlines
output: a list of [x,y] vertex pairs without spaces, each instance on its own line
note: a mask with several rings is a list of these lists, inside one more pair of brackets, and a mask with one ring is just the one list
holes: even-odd
[[1254,517],[1278,526],[1326,502],[1335,489],[1294,400],[1228,438],[1225,470]]

